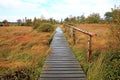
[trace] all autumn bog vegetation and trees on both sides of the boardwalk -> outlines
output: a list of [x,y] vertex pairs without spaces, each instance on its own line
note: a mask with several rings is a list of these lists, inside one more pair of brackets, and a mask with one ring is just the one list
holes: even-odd
[[76,32],[76,45],[66,37],[87,80],[120,79],[120,7],[114,7],[101,18],[99,13],[88,17],[70,16],[57,21],[53,18],[34,18],[17,22],[0,22],[0,80],[37,80],[49,55],[49,44],[55,25],[62,23],[97,33],[92,40],[92,61],[87,62],[87,36]]

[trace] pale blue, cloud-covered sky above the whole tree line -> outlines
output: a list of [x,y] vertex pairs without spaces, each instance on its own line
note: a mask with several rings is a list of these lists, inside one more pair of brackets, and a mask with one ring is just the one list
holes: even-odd
[[15,22],[25,17],[61,20],[66,17],[88,16],[111,11],[114,5],[119,6],[120,0],[0,0],[0,21],[7,19]]

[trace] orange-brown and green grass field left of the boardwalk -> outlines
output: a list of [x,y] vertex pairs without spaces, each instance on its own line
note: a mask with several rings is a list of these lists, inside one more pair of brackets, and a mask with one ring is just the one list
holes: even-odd
[[32,27],[0,27],[0,79],[37,80],[51,35]]

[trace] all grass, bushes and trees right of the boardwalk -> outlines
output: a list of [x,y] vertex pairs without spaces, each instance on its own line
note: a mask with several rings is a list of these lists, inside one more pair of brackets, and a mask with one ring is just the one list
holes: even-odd
[[[86,73],[87,80],[119,80],[120,7],[115,7],[111,12],[106,12],[104,21],[100,20],[98,14],[92,14],[88,18],[81,16],[80,21],[74,20],[74,18],[67,19],[66,23],[69,24],[70,21],[72,21],[70,25],[97,33],[97,36],[92,39],[92,61],[89,63],[87,61],[88,37],[76,31],[76,45],[73,45],[73,40],[69,37],[70,30],[67,29],[66,32],[66,37]],[[78,22],[82,24],[78,24]]]

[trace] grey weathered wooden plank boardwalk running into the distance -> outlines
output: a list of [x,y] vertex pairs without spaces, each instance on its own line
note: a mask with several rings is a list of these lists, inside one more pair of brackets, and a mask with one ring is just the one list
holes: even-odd
[[51,43],[51,55],[45,61],[39,80],[86,80],[60,27]]

